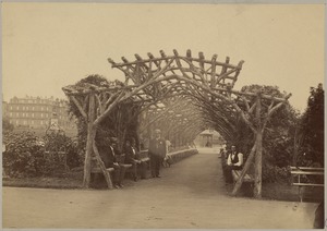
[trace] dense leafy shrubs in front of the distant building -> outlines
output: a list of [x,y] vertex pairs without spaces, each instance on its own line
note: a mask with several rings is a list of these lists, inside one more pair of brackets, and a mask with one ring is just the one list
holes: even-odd
[[76,143],[64,134],[40,139],[32,132],[8,133],[3,142],[3,169],[12,178],[53,175],[64,172],[65,163],[70,169],[83,165]]

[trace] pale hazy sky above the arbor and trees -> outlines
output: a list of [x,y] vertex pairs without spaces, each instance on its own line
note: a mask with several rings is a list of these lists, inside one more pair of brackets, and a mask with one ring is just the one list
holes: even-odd
[[324,4],[2,3],[3,98],[65,98],[88,74],[122,80],[107,59],[177,49],[244,60],[235,89],[277,85],[304,110],[324,83]]

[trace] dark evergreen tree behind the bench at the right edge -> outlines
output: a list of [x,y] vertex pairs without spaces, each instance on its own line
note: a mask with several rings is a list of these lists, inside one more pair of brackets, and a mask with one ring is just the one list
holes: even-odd
[[323,84],[311,87],[307,108],[301,119],[300,132],[303,136],[298,165],[324,166],[324,89]]

